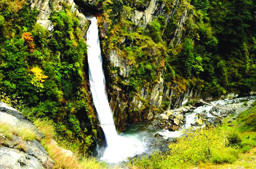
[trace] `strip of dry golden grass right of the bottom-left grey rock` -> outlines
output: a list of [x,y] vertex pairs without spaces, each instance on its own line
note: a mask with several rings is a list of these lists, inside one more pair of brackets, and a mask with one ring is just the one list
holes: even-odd
[[44,134],[41,140],[46,151],[54,161],[54,168],[64,169],[105,169],[96,158],[81,158],[78,154],[68,156],[64,149],[52,141],[55,137],[54,124],[52,121],[36,120],[34,125]]

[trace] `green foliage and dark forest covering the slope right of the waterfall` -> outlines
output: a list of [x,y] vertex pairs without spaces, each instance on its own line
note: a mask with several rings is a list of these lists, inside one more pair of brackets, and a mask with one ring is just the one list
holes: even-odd
[[[102,3],[104,21],[110,25],[102,41],[103,53],[117,50],[132,67],[128,77],[115,77],[112,84],[128,93],[138,92],[152,87],[163,72],[166,84],[183,88],[185,82],[204,97],[255,91],[255,1],[181,0],[175,11],[174,1],[161,0],[157,5],[165,5],[157,10],[164,11],[162,15],[146,25],[135,24],[132,12],[145,10],[147,3]],[[175,13],[169,17],[171,12]],[[182,17],[186,21],[178,35],[175,31]]]

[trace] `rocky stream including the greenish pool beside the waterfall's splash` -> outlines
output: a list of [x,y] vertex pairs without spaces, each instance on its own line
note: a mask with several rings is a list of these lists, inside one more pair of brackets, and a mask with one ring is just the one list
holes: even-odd
[[[129,159],[145,155],[149,156],[154,152],[165,152],[168,150],[169,143],[175,141],[175,138],[186,134],[186,129],[191,127],[200,128],[206,125],[221,125],[224,118],[229,115],[233,115],[233,118],[236,118],[239,112],[250,108],[255,100],[256,96],[249,96],[211,102],[213,105],[230,107],[232,110],[223,110],[198,103],[193,106],[186,105],[178,109],[164,111],[162,114],[156,115],[155,120],[150,123],[139,123],[128,126],[122,134],[136,134],[140,138],[140,141],[147,147],[143,153],[137,154]],[[229,127],[232,127],[232,123],[230,123]],[[124,165],[125,162],[118,164]]]

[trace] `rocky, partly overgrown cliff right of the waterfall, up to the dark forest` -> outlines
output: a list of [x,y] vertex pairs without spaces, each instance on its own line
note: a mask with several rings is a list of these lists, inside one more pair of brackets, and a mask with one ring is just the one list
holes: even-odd
[[[78,6],[96,9],[99,15],[108,99],[117,124],[149,121],[154,114],[178,108],[190,98],[200,97],[202,81],[167,78],[173,70],[169,70],[166,63],[170,58],[166,58],[165,51],[168,48],[180,52],[181,42],[193,33],[190,26],[196,22],[194,8],[187,1],[75,2]],[[151,35],[157,24],[160,25],[159,34]],[[157,36],[160,38],[155,39]],[[148,37],[154,42],[147,40]],[[163,47],[159,41],[164,42]],[[155,70],[150,72],[150,69]],[[171,73],[166,75],[166,72]]]

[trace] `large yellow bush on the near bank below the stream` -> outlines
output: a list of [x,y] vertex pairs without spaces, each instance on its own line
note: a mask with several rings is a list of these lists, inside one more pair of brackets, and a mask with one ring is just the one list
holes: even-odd
[[[231,156],[232,159],[234,158],[231,150],[233,148],[226,147],[228,145],[226,135],[226,131],[212,126],[196,130],[188,129],[185,136],[181,136],[176,143],[169,145],[170,150],[167,153],[165,162],[174,165],[186,162],[192,164],[207,161],[229,162],[215,156],[216,152],[219,154],[221,151],[222,153],[227,153],[225,158],[229,159]],[[212,160],[212,158],[215,160]]]

